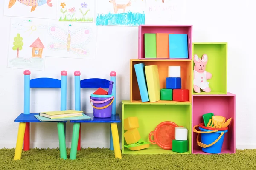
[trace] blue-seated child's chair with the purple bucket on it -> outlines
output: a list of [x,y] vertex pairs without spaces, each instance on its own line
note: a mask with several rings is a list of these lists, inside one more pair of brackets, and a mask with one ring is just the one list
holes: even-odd
[[[116,72],[111,71],[110,80],[91,78],[80,80],[80,71],[75,71],[75,109],[81,110],[81,88],[109,88],[110,81],[113,81],[112,94],[114,95],[114,101],[112,104],[112,116],[111,118],[94,118],[93,114],[87,114],[91,120],[71,120],[70,123],[73,125],[73,136],[71,142],[70,159],[76,159],[76,151],[81,149],[81,123],[110,123],[110,150],[114,150],[115,157],[121,159],[121,151],[119,144],[119,137],[116,123],[120,123],[119,114],[116,114]],[[89,98],[88,98],[89,99]]]

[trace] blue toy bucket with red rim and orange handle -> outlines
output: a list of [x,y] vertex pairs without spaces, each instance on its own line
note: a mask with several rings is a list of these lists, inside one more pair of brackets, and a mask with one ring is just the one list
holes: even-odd
[[[196,130],[195,127],[198,127],[201,131]],[[193,131],[198,133],[196,140],[198,146],[202,147],[202,151],[205,153],[221,153],[222,144],[228,127],[205,127],[204,123],[196,125],[195,127],[193,128]],[[201,133],[202,142],[199,142],[199,133]]]

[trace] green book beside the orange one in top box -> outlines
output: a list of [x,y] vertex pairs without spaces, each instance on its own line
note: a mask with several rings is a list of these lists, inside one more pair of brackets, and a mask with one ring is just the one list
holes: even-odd
[[157,58],[157,35],[151,33],[144,34],[145,58]]

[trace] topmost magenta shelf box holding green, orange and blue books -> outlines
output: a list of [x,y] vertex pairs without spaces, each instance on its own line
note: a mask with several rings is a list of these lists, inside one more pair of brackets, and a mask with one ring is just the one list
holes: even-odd
[[[145,33],[169,33],[169,34],[188,34],[188,58],[145,58]],[[170,59],[170,60],[191,60],[192,59],[192,25],[140,25],[138,59]]]

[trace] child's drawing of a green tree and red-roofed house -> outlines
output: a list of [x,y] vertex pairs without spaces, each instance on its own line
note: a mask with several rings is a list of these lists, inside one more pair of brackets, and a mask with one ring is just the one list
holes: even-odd
[[44,70],[47,22],[12,19],[8,68]]

